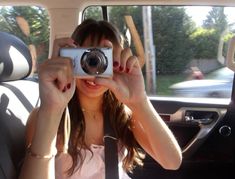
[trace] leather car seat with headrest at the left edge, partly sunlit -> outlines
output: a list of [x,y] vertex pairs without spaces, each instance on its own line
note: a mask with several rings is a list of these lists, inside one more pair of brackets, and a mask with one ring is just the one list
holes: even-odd
[[24,42],[0,32],[0,179],[17,178],[24,158],[25,125],[39,99],[31,69]]

